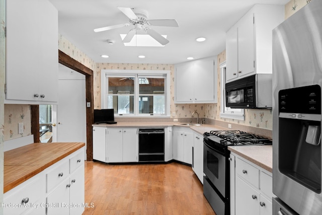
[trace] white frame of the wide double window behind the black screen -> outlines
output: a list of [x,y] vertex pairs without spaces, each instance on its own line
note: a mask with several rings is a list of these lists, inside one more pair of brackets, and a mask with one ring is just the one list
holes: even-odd
[[[107,108],[108,95],[108,77],[132,77],[134,76],[134,113],[129,114],[114,114],[114,117],[170,117],[170,70],[128,70],[128,69],[102,69],[101,70],[101,108]],[[139,113],[139,78],[164,78],[165,79],[165,113],[164,114],[150,114]]]

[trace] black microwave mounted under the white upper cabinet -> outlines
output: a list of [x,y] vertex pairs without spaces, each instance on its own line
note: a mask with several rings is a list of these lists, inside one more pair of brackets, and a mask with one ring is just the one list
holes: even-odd
[[225,85],[226,107],[271,109],[272,74],[255,74]]

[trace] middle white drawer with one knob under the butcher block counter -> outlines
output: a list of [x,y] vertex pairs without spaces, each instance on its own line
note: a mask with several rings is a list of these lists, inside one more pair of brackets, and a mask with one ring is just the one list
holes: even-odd
[[56,165],[46,174],[47,192],[69,176],[69,160],[62,161]]

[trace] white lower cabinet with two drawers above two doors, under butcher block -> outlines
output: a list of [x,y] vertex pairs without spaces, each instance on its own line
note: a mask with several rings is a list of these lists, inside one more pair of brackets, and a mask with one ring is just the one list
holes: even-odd
[[[83,158],[83,159],[82,159]],[[84,148],[46,171],[47,215],[82,214],[85,203]]]

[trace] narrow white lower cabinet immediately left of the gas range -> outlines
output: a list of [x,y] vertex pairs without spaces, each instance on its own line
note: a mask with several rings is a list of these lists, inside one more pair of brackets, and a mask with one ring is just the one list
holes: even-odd
[[194,132],[192,169],[203,184],[203,136]]

